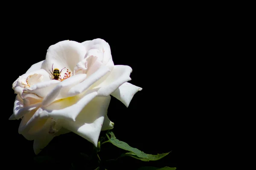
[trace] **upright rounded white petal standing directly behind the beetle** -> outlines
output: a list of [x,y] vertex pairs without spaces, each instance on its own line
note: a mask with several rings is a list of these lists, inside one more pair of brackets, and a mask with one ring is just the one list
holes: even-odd
[[[46,70],[52,71],[53,64],[53,69],[58,68],[61,71],[62,68],[65,68],[73,72],[76,64],[84,59],[86,52],[84,45],[76,41],[64,40],[51,45],[46,54]],[[65,69],[61,73],[62,77]]]

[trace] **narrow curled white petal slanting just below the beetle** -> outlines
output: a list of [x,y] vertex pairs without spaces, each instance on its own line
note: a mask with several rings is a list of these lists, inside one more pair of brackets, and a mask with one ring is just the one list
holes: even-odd
[[68,92],[70,88],[84,81],[86,76],[87,76],[86,74],[78,74],[63,80],[62,82],[59,82],[58,85],[56,85],[54,88],[51,89],[51,91],[49,92],[47,91],[48,94],[47,96],[45,96],[42,102],[42,105],[47,106],[50,103],[52,103],[54,100],[68,97],[69,96]]

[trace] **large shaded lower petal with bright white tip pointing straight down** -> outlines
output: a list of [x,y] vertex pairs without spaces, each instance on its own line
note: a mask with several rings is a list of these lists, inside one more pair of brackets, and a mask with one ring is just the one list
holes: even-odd
[[97,146],[110,99],[110,96],[96,97],[79,113],[75,122],[65,119],[63,127]]

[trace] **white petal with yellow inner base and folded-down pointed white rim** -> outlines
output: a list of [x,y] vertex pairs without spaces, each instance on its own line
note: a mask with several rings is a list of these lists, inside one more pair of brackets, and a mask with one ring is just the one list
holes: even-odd
[[47,118],[50,116],[55,119],[76,121],[76,117],[81,110],[97,96],[97,90],[98,89],[85,91],[82,94],[61,99],[50,105],[44,106],[42,107],[43,112],[41,113],[41,117]]

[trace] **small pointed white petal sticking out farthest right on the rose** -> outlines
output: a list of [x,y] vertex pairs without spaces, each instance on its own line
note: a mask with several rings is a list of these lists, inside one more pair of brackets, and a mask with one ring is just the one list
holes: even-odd
[[120,85],[119,88],[117,88],[116,91],[111,94],[111,96],[119,99],[126,107],[128,107],[134,94],[141,90],[142,88],[125,82]]

